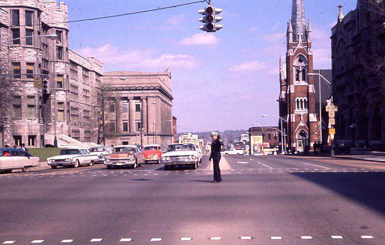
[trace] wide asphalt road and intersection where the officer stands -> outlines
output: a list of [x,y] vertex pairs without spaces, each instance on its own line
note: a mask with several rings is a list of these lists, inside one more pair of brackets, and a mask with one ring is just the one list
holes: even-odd
[[221,183],[207,156],[0,175],[0,243],[385,244],[384,164],[241,155],[221,169]]

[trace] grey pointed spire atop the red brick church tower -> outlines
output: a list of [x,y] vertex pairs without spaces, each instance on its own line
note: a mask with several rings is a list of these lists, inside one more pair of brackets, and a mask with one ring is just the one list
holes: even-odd
[[306,20],[303,1],[304,0],[293,0],[292,4],[291,26],[295,40],[298,40],[298,35],[301,35],[302,39],[306,39]]

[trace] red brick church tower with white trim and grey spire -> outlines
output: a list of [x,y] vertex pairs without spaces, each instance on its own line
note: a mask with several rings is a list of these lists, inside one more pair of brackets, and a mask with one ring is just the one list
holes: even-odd
[[[286,60],[280,59],[280,117],[284,124],[286,147],[303,152],[316,141],[317,116],[313,77],[312,28],[306,24],[304,0],[293,0],[287,23]],[[319,129],[318,129],[319,131]]]

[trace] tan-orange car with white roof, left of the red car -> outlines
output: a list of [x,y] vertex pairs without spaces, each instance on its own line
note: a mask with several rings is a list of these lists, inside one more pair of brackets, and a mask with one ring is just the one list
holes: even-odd
[[130,166],[135,169],[138,165],[142,166],[143,161],[143,152],[136,145],[118,145],[112,148],[110,158],[104,164],[107,169],[112,169],[113,166]]

